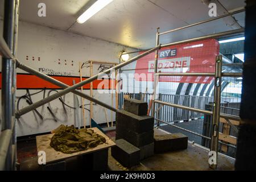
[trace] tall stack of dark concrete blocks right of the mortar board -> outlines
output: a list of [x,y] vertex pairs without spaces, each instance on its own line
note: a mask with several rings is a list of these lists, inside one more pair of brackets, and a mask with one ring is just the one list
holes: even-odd
[[[131,167],[139,164],[140,160],[154,155],[154,118],[147,115],[147,102],[125,100],[123,109],[116,113],[115,140],[117,146],[112,148],[112,155],[121,164]],[[125,146],[130,146],[134,151],[129,150],[126,154],[138,155],[133,158],[138,161],[133,161],[132,165],[127,166],[127,162],[123,162],[119,156],[127,150]],[[122,150],[122,152],[117,152],[117,150]]]

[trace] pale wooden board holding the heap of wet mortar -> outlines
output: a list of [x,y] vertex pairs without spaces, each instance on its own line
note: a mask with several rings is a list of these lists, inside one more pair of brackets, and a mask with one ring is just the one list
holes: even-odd
[[[81,129],[81,130],[84,130],[84,129]],[[89,154],[92,152],[104,150],[105,148],[115,146],[115,143],[111,139],[109,139],[109,137],[107,137],[104,133],[102,133],[99,129],[97,129],[96,127],[93,127],[92,130],[95,133],[104,137],[106,139],[106,143],[100,144],[94,148],[89,148],[88,150],[85,150],[85,151],[75,152],[73,154],[64,154],[62,152],[56,151],[54,148],[52,148],[49,145],[51,143],[51,138],[54,134],[48,134],[48,135],[40,135],[36,137],[36,147],[38,151],[46,152],[46,163],[48,164],[52,162],[57,162],[59,160],[64,160],[66,158],[71,158],[72,156]]]

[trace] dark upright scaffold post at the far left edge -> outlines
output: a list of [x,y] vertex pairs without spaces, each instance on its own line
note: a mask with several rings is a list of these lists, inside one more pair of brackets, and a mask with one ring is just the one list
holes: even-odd
[[[3,23],[3,38],[13,54],[14,47],[14,12],[15,0],[5,1],[5,18]],[[13,59],[2,59],[2,131],[12,128],[13,124]],[[13,169],[13,148],[12,142],[6,158],[6,170]]]

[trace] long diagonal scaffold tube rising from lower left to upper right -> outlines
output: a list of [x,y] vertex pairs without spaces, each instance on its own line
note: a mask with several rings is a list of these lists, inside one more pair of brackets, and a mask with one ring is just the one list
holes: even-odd
[[30,106],[24,107],[23,109],[17,111],[16,115],[20,116],[20,115],[26,114],[26,113],[28,113],[28,112],[30,112],[30,111],[32,111],[32,110],[34,110],[34,109],[44,105],[44,104],[47,104],[48,102],[51,102],[51,101],[55,100],[56,98],[64,96],[65,94],[67,94],[69,92],[72,92],[73,90],[76,90],[77,88],[80,88],[81,86],[83,86],[85,84],[88,84],[89,82],[97,80],[97,78],[105,76],[106,74],[108,74],[108,73],[110,73],[112,71],[115,71],[116,69],[122,68],[122,67],[124,67],[127,64],[133,63],[135,60],[138,60],[141,57],[146,56],[149,53],[154,52],[156,49],[159,49],[159,48],[160,48],[160,45],[150,49],[149,51],[146,51],[146,52],[142,53],[141,55],[135,56],[135,57],[133,57],[132,59],[130,59],[128,61],[125,61],[125,62],[123,62],[121,64],[118,64],[118,65],[116,65],[116,66],[114,66],[114,67],[112,67],[112,68],[110,68],[110,69],[108,69],[108,70],[106,70],[106,71],[104,71],[102,73],[98,73],[97,75],[94,75],[94,76],[92,76],[92,77],[90,77],[90,78],[88,78],[88,79],[86,79],[84,81],[81,81],[78,84],[75,84],[73,86],[69,86],[68,88],[65,88],[64,90],[61,90],[60,92],[58,92],[56,94],[53,94],[53,95],[51,95],[51,96],[49,96],[47,98],[44,98],[43,100],[35,102],[34,104],[32,104]]

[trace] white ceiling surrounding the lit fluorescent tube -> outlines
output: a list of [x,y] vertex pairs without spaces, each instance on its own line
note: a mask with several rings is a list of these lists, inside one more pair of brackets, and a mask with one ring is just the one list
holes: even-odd
[[[37,16],[38,3],[46,3],[47,16]],[[134,48],[155,46],[160,32],[209,19],[209,8],[201,0],[114,0],[84,24],[76,23],[88,0],[22,0],[20,19],[80,35],[108,40]],[[244,0],[218,0],[226,10],[245,6]],[[244,26],[245,14],[234,16]],[[222,19],[161,36],[161,43],[176,42],[214,32],[232,30]]]

